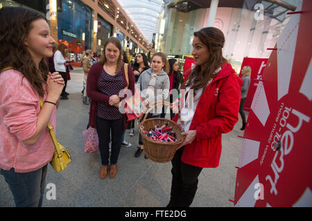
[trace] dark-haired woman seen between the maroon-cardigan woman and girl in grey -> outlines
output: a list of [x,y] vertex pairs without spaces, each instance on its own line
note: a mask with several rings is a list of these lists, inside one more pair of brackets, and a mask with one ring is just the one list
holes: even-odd
[[[139,76],[141,73],[143,73],[145,70],[148,70],[150,66],[148,66],[148,59],[144,53],[137,54],[137,57],[135,57],[135,64],[133,64],[133,73],[135,73],[135,83],[137,83],[137,80],[139,79]],[[129,122],[130,132],[129,136],[132,137],[135,135],[135,119],[132,119],[132,121]]]

